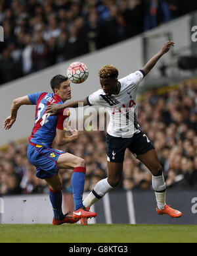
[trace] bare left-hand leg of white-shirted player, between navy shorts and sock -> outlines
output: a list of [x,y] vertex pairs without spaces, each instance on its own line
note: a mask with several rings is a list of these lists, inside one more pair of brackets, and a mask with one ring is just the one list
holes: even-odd
[[108,183],[116,187],[121,181],[123,162],[108,162]]

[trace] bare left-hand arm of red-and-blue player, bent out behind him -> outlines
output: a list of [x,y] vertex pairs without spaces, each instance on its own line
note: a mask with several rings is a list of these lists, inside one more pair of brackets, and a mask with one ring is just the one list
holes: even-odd
[[5,130],[11,129],[13,123],[16,121],[18,109],[22,105],[32,105],[32,102],[30,102],[28,96],[23,96],[23,97],[16,98],[15,100],[13,100],[12,106],[11,106],[11,115],[9,117],[7,117],[7,119],[5,119],[5,121],[4,121],[3,128]]

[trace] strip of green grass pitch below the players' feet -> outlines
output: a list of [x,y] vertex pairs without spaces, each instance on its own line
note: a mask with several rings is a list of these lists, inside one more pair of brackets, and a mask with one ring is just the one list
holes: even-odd
[[0,224],[0,243],[196,243],[196,225]]

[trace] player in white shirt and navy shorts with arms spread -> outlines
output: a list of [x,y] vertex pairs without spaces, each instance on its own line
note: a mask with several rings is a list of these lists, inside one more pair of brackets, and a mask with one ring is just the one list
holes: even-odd
[[[81,106],[81,103],[83,103],[83,106],[104,106],[110,113],[110,123],[106,136],[108,177],[101,179],[85,198],[83,201],[85,207],[91,207],[120,183],[125,149],[129,148],[152,174],[152,188],[157,203],[156,212],[158,214],[168,214],[172,218],[182,216],[182,212],[169,207],[165,203],[166,184],[162,166],[153,144],[142,133],[137,123],[136,104],[137,88],[141,80],[174,44],[173,41],[165,42],[160,51],[142,69],[122,79],[118,79],[118,69],[116,67],[105,65],[99,71],[101,89],[97,92],[93,92],[84,100],[58,105],[51,104],[47,107],[47,113],[56,114],[64,108],[78,108],[79,104]],[[81,220],[81,223],[87,224],[87,221]]]

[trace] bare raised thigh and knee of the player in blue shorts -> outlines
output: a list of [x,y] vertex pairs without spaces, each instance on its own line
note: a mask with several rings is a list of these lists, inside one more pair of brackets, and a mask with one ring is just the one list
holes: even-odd
[[58,169],[74,169],[76,167],[85,167],[85,160],[74,154],[65,153],[60,154],[58,160],[56,161]]

